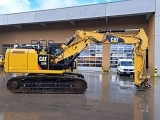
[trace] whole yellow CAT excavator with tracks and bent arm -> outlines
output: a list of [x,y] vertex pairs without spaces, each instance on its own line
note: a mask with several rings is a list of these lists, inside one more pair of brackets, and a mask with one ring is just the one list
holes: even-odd
[[[132,34],[131,34],[131,33]],[[35,41],[34,41],[35,42]],[[8,73],[27,73],[8,80],[7,89],[13,93],[74,93],[83,94],[87,82],[82,74],[74,73],[74,60],[88,49],[91,43],[133,44],[134,45],[134,83],[138,90],[148,90],[150,76],[144,73],[148,65],[148,37],[140,29],[120,30],[77,30],[59,52],[49,41],[36,41],[35,47],[7,49],[5,71]],[[31,42],[32,43],[32,42]],[[35,44],[35,43],[34,43]],[[68,72],[68,70],[70,72]]]

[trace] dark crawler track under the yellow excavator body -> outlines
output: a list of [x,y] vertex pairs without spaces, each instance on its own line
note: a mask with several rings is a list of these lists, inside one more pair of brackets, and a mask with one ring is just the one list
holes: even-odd
[[7,89],[13,93],[83,94],[87,83],[81,74],[27,75],[8,80]]

